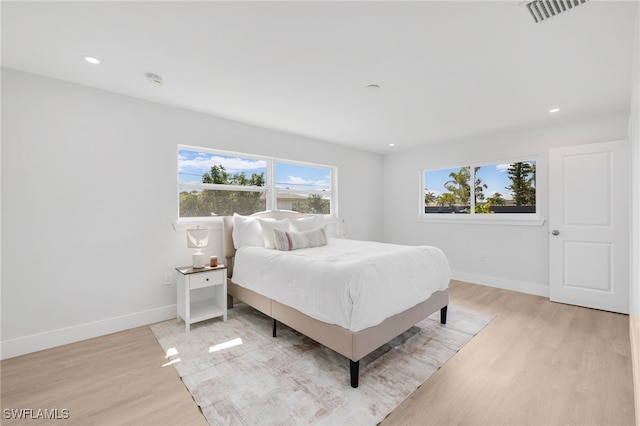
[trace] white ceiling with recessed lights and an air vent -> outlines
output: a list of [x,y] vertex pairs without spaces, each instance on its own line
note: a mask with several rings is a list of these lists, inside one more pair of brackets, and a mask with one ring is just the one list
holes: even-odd
[[2,65],[389,153],[628,111],[636,7],[3,1]]

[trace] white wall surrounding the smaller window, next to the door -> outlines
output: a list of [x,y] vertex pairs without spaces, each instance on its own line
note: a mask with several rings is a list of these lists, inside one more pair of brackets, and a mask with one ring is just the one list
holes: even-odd
[[[542,226],[418,222],[419,172],[518,157],[537,161],[537,210],[548,219],[548,151],[552,147],[627,139],[628,114],[594,117],[570,125],[477,136],[387,155],[385,241],[430,244],[449,257],[454,278],[531,294],[549,293],[549,229]],[[550,121],[552,118],[550,117]],[[518,250],[514,250],[517,244]],[[486,254],[481,262],[480,252]]]

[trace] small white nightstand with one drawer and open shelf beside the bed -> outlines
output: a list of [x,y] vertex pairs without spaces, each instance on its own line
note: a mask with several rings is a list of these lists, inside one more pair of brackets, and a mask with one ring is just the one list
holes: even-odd
[[[178,317],[184,320],[184,329],[194,322],[222,317],[227,320],[227,268],[224,265],[194,269],[191,266],[178,271]],[[192,292],[204,289],[206,297],[192,300]]]

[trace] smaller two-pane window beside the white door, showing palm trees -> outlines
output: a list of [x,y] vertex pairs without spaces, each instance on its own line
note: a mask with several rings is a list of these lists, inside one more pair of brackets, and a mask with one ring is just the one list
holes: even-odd
[[536,213],[533,160],[426,170],[422,183],[425,216]]

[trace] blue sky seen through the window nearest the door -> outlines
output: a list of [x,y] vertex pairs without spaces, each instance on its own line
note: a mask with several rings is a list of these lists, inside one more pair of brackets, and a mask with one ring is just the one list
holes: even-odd
[[[482,179],[482,182],[485,183],[488,188],[483,189],[483,193],[485,198],[491,197],[496,192],[502,194],[502,197],[505,200],[511,200],[513,198],[513,193],[508,190],[506,187],[511,185],[511,180],[509,179],[509,175],[507,174],[507,170],[509,169],[509,163],[506,164],[493,164],[489,166],[482,166],[476,172],[477,178]],[[442,169],[442,170],[429,170],[425,172],[425,188],[428,191],[435,193],[436,195],[440,195],[444,192],[447,192],[447,189],[444,187],[445,182],[451,180],[449,177],[449,173],[458,172],[460,167],[456,167],[453,169]]]

